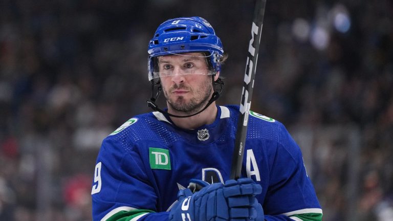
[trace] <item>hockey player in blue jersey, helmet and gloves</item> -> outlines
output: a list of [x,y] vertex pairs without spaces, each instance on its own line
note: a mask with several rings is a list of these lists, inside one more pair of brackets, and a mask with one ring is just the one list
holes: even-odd
[[229,179],[239,106],[215,104],[225,56],[208,21],[169,19],[148,47],[155,111],[103,140],[94,220],[322,219],[300,148],[272,118],[250,112],[242,178]]

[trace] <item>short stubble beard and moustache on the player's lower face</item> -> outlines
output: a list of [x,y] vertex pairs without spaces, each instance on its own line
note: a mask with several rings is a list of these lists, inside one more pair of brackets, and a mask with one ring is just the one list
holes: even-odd
[[[194,96],[187,102],[183,96],[171,97],[170,92],[176,89],[185,89],[192,93]],[[165,98],[169,106],[179,112],[186,114],[194,114],[200,111],[210,99],[212,85],[210,81],[203,82],[197,91],[193,91],[190,87],[186,87],[183,84],[175,84],[167,90],[163,89]]]

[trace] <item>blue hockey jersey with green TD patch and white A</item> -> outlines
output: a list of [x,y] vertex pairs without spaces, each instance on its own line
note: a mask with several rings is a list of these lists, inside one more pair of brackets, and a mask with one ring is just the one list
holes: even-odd
[[[238,106],[217,106],[215,121],[194,130],[159,112],[129,119],[106,137],[92,188],[94,220],[167,220],[190,179],[229,179]],[[262,186],[266,220],[301,220],[322,210],[302,154],[278,121],[250,111],[242,176]],[[320,220],[320,219],[312,219]]]

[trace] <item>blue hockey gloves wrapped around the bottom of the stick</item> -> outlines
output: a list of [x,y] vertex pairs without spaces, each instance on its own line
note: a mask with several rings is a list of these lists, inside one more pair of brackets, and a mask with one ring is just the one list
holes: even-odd
[[251,179],[214,183],[192,194],[180,190],[178,203],[169,213],[171,221],[264,220],[264,212],[255,198],[260,185]]

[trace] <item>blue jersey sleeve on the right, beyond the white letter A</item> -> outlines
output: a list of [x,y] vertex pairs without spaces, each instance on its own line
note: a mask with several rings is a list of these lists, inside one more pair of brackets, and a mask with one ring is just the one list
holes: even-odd
[[282,124],[276,151],[271,154],[271,175],[263,205],[266,220],[321,220],[322,209],[301,150]]

